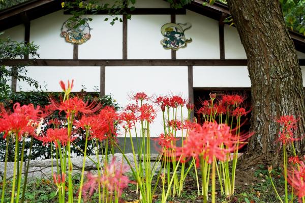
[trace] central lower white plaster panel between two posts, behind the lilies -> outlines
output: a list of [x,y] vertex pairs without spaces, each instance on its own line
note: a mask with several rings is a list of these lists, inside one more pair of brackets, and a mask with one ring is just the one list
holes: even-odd
[[[182,94],[188,98],[187,67],[106,67],[105,93],[112,94],[120,107],[133,103],[128,94],[145,92],[148,96]],[[158,107],[156,107],[158,108]],[[163,132],[162,111],[151,125],[151,136]],[[184,115],[187,115],[185,109]],[[123,133],[123,131],[121,131]]]

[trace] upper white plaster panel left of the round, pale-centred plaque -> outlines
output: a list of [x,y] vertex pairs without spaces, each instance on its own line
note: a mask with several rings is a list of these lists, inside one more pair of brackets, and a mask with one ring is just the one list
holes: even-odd
[[73,59],[73,44],[60,36],[60,29],[69,17],[60,10],[31,21],[30,41],[39,45],[41,59]]

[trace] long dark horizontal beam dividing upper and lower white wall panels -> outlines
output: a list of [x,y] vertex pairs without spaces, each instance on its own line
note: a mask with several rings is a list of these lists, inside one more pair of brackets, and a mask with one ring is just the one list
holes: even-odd
[[[305,64],[305,60],[299,60]],[[38,60],[3,60],[2,64],[14,66],[24,64],[26,66],[247,66],[244,59],[135,59],[135,60],[67,60],[67,59],[38,59]]]

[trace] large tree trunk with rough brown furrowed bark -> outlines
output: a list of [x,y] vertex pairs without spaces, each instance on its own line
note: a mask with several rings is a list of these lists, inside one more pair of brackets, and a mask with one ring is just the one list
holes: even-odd
[[[227,0],[248,57],[252,85],[251,130],[255,132],[242,166],[281,164],[276,142],[281,115],[298,118],[295,136],[304,135],[304,92],[296,50],[278,0]],[[304,152],[304,143],[297,143]]]

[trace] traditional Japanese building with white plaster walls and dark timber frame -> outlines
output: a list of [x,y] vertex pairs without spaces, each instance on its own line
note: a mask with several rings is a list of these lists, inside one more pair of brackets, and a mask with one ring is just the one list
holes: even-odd
[[[249,91],[245,50],[236,28],[224,22],[228,7],[203,2],[174,10],[162,0],[137,0],[135,10],[126,9],[130,20],[101,11],[83,16],[93,20],[73,28],[60,1],[32,0],[1,11],[0,30],[15,41],[39,45],[40,58],[28,66],[27,76],[47,91],[60,91],[58,81],[73,78],[74,91],[84,85],[87,92],[112,94],[120,106],[138,91],[182,94],[191,102],[207,91]],[[111,25],[115,17],[123,22]],[[290,36],[305,75],[305,37],[291,31]],[[22,81],[12,85],[16,91],[33,90]]]

